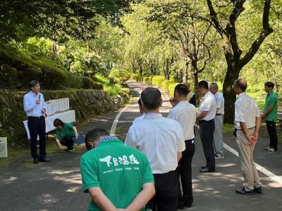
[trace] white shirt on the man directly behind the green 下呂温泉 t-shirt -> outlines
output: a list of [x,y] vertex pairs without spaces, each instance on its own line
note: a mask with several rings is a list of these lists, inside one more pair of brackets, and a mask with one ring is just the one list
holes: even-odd
[[147,113],[144,120],[131,125],[125,145],[147,155],[153,174],[176,170],[177,153],[185,150],[180,124],[160,113]]

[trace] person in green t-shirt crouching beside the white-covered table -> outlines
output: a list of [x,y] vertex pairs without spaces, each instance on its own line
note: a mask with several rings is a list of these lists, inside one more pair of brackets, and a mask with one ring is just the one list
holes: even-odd
[[78,130],[73,124],[65,123],[60,119],[54,120],[54,127],[56,127],[56,142],[60,149],[66,146],[66,151],[73,152],[73,139],[78,139]]

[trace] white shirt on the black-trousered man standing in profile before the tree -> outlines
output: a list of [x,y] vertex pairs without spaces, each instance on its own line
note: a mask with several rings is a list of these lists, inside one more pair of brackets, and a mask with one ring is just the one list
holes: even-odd
[[204,111],[207,111],[207,115],[202,118],[202,120],[212,120],[216,116],[216,99],[214,98],[214,94],[212,92],[208,91],[204,97],[202,102],[200,103],[199,106],[199,113],[201,114]]

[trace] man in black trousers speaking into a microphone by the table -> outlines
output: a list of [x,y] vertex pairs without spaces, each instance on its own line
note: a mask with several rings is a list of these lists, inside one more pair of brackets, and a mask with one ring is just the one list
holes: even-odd
[[[46,126],[45,126],[45,101],[40,93],[40,85],[36,80],[29,84],[30,92],[23,98],[23,108],[27,113],[27,127],[30,131],[30,151],[33,163],[50,162],[46,158]],[[37,136],[39,136],[39,155],[37,154]]]

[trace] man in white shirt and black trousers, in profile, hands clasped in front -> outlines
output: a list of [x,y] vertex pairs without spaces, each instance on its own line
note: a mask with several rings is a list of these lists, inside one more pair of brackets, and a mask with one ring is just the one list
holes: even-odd
[[203,99],[200,103],[197,122],[200,124],[200,137],[207,164],[201,167],[200,172],[214,172],[214,117],[216,116],[216,99],[209,91],[209,84],[206,81],[199,82],[199,91]]

